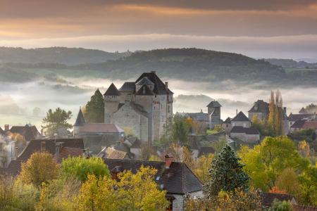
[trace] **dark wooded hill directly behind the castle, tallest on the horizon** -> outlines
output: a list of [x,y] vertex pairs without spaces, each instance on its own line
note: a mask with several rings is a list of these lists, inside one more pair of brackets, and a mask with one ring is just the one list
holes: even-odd
[[80,70],[99,70],[108,77],[130,78],[141,72],[156,70],[163,77],[218,81],[219,79],[274,79],[285,71],[265,60],[256,60],[237,53],[204,49],[158,49],[139,51],[119,60],[83,64]]

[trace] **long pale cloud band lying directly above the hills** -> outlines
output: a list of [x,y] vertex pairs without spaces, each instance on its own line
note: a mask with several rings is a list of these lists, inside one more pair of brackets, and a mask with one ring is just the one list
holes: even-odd
[[52,39],[2,40],[1,46],[24,48],[68,46],[104,51],[130,51],[197,47],[215,51],[242,53],[254,58],[316,59],[317,35],[275,37],[225,37],[179,34],[129,34],[66,37]]

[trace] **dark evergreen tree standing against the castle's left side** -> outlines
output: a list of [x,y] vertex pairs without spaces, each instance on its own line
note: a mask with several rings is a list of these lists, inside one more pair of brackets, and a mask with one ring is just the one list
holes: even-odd
[[102,96],[99,89],[94,92],[94,95],[88,101],[84,115],[87,122],[104,122],[104,96]]

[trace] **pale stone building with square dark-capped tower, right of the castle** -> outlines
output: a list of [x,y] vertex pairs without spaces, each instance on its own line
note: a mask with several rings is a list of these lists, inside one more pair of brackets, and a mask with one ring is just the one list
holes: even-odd
[[202,109],[199,113],[176,113],[175,115],[190,117],[192,120],[206,124],[207,128],[212,129],[217,124],[221,124],[221,105],[218,101],[211,101],[207,106],[208,113],[204,113]]

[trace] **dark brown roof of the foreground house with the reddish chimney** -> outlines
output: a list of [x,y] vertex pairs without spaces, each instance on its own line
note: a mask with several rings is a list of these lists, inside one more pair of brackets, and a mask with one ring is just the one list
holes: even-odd
[[154,167],[158,170],[156,183],[163,185],[163,189],[168,193],[185,194],[201,191],[201,181],[182,162],[172,162],[169,169],[166,169],[165,162],[146,160],[115,160],[104,159],[109,170],[131,170],[136,173],[143,165],[144,167]]

